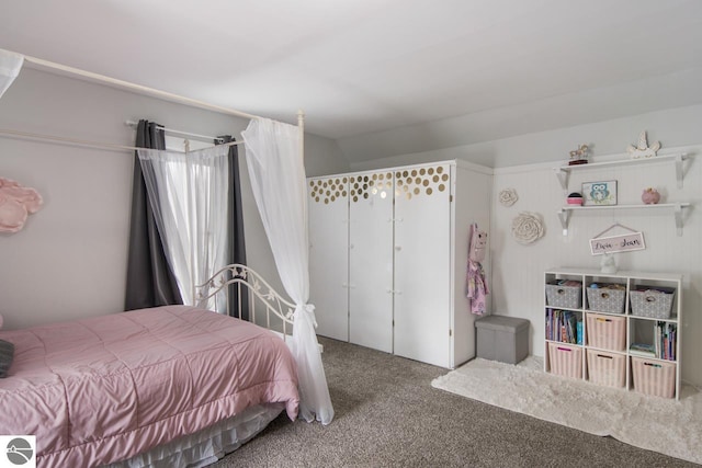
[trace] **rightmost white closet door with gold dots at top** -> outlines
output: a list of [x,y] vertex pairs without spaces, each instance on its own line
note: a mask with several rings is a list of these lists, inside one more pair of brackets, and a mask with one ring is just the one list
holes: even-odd
[[396,170],[395,354],[450,365],[451,167]]

